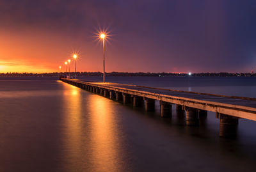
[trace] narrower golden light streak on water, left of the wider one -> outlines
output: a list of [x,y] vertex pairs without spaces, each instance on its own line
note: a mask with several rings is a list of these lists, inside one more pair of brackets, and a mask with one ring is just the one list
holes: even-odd
[[81,126],[81,89],[70,84],[63,83],[63,125],[64,125],[64,147],[65,154],[68,159],[68,170],[76,168],[77,160],[81,159],[83,155],[81,145],[83,145],[83,129]]

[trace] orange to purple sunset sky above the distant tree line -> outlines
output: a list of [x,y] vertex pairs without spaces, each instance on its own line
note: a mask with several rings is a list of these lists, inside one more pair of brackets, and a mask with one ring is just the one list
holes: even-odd
[[[251,72],[255,0],[0,0],[0,73]],[[70,63],[74,71],[74,60]]]

